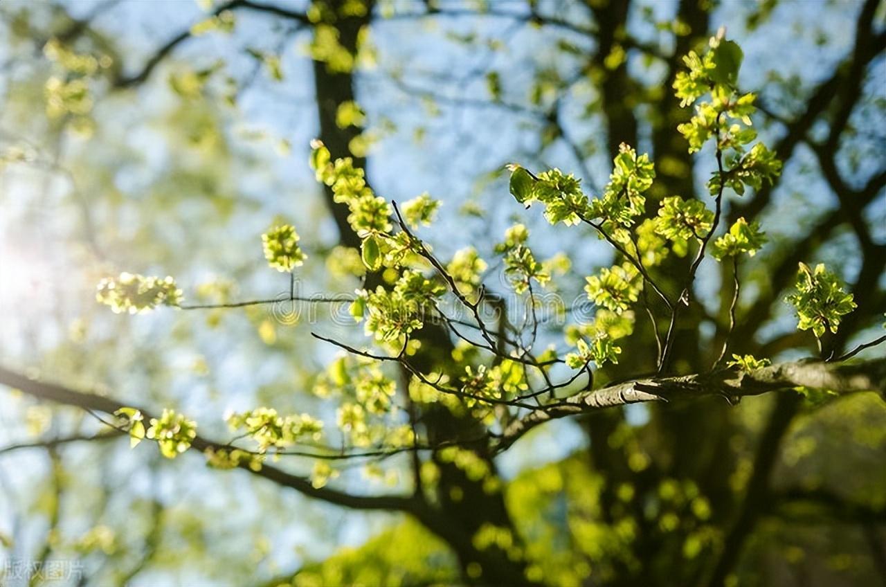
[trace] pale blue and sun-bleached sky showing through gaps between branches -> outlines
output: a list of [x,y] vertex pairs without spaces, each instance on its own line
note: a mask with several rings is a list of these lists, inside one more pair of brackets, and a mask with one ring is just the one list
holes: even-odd
[[[646,4],[663,19],[672,13],[674,5],[667,2]],[[93,10],[96,4],[72,2],[68,5],[72,13],[85,14]],[[514,8],[516,4],[501,2],[493,5],[496,10],[517,10]],[[804,80],[804,85],[811,86],[828,75],[835,62],[851,48],[856,3],[784,2],[779,4],[770,22],[752,33],[741,25],[742,14],[750,5],[744,2],[723,3],[714,18],[714,22],[727,24],[729,35],[742,44],[746,56],[741,78],[744,87],[764,85],[772,71],[784,77],[798,74]],[[128,66],[133,67],[142,63],[144,56],[150,54],[159,43],[199,20],[200,15],[198,5],[190,2],[128,2],[103,14],[95,21],[95,26],[124,43]],[[285,287],[281,282],[282,276],[270,271],[249,269],[250,263],[260,265],[260,247],[255,246],[257,235],[267,228],[270,219],[276,215],[289,219],[299,231],[304,231],[306,242],[315,239],[331,244],[336,239],[334,225],[328,219],[318,220],[323,217],[323,201],[313,174],[307,167],[307,145],[317,132],[310,62],[304,49],[307,34],[302,32],[282,41],[284,36],[278,34],[268,22],[263,15],[245,14],[238,20],[237,32],[233,37],[206,35],[183,45],[175,51],[173,64],[160,69],[152,83],[139,90],[137,95],[118,98],[107,106],[100,106],[105,108],[104,113],[111,116],[107,121],[109,132],[125,136],[128,148],[143,156],[138,165],[115,170],[121,192],[137,194],[139,186],[154,182],[163,175],[176,152],[167,148],[162,133],[156,128],[140,125],[139,119],[130,117],[144,116],[148,120],[152,116],[159,116],[170,105],[172,98],[163,77],[175,68],[175,64],[190,63],[201,67],[216,59],[225,59],[232,74],[243,76],[252,67],[252,59],[245,57],[242,51],[245,46],[267,51],[279,47],[283,51],[286,82],[283,85],[275,84],[267,76],[259,74],[253,87],[242,96],[238,112],[230,114],[228,119],[227,131],[230,136],[240,137],[235,140],[240,150],[238,153],[260,157],[265,161],[258,169],[246,168],[235,161],[237,170],[242,168],[244,175],[234,177],[231,185],[237,194],[237,209],[242,210],[243,214],[237,215],[236,224],[224,227],[218,234],[206,235],[201,250],[189,252],[192,253],[189,259],[183,261],[183,255],[176,257],[167,253],[170,263],[177,262],[187,267],[185,273],[176,276],[186,290],[192,289],[202,279],[226,274],[243,277],[239,286],[241,295],[245,297],[260,297],[262,293],[277,292]],[[663,34],[649,29],[639,20],[633,23],[633,27],[647,40],[664,38]],[[443,31],[471,30],[479,35],[500,39],[505,49],[498,52],[465,50],[455,43],[442,40]],[[816,31],[828,34],[830,41],[827,49],[816,45]],[[537,126],[533,126],[531,117],[496,107],[440,104],[441,114],[431,119],[421,100],[404,94],[389,79],[392,71],[402,70],[411,84],[432,88],[451,98],[484,96],[482,74],[494,68],[501,72],[506,91],[514,94],[512,98],[521,99],[522,89],[532,76],[533,64],[556,65],[563,69],[568,69],[570,65],[546,50],[549,40],[546,35],[525,27],[515,27],[513,20],[504,18],[441,19],[436,25],[419,25],[414,20],[392,20],[373,28],[378,65],[360,74],[359,99],[369,113],[371,125],[379,126],[385,118],[389,118],[397,123],[398,130],[386,135],[371,152],[369,176],[377,192],[389,199],[408,200],[427,191],[443,200],[441,221],[423,232],[443,256],[465,244],[476,244],[488,250],[494,238],[509,225],[510,217],[520,215],[536,231],[537,246],[543,254],[565,248],[571,254],[573,263],[587,267],[588,272],[592,267],[607,263],[610,258],[608,249],[596,241],[594,246],[589,247],[587,241],[573,239],[561,229],[545,226],[536,210],[523,213],[521,207],[510,198],[504,178],[478,181],[478,176],[501,168],[509,161],[522,162],[524,157],[537,151]],[[4,56],[5,51],[0,45],[0,57]],[[636,68],[636,64],[632,63],[632,67]],[[880,59],[872,83],[879,83],[881,98],[883,70]],[[578,94],[572,100],[574,104],[578,104],[582,97],[582,89],[579,87],[576,91]],[[0,128],[17,123],[4,121],[2,115],[0,122]],[[527,122],[530,124],[527,125]],[[882,135],[882,119],[874,123],[879,125],[878,130]],[[426,127],[424,140],[417,145],[414,140],[416,126]],[[242,138],[257,129],[264,131],[268,137],[261,140]],[[571,126],[571,132],[577,137],[594,137],[595,133],[599,134],[599,129],[594,121],[576,122]],[[779,132],[778,128],[768,129],[763,132],[763,137],[777,137]],[[276,153],[276,145],[281,138],[291,143],[291,154],[280,156]],[[91,156],[102,155],[100,145],[73,141],[70,149],[86,159],[89,159],[89,150],[92,149],[94,153]],[[705,155],[710,153],[702,153],[700,158],[704,160]],[[862,164],[857,172],[859,177],[863,178],[869,173],[870,165],[874,165],[877,159],[882,167],[882,153],[872,155],[872,162],[867,163],[867,167]],[[808,153],[801,153],[799,159],[811,160]],[[544,160],[549,165],[578,173],[577,162],[563,145],[550,149],[545,153]],[[609,172],[607,157],[595,157],[588,161],[588,167],[593,177],[586,178],[587,184],[604,184]],[[710,167],[704,163],[696,169],[699,177],[705,177],[709,171]],[[811,179],[800,172],[799,165],[785,170],[789,181],[779,192],[771,216],[773,223],[767,227],[773,236],[779,233],[790,235],[795,230],[796,212],[793,209],[797,207],[797,198],[794,192],[800,192],[797,197],[801,198],[804,207],[835,205],[820,179]],[[80,260],[88,257],[84,257],[78,248],[82,244],[72,244],[78,239],[76,226],[79,217],[71,204],[71,186],[65,176],[52,177],[46,186],[44,195],[48,196],[45,200],[36,200],[32,195],[35,186],[47,181],[45,177],[44,170],[20,168],[7,170],[0,176],[0,191],[4,192],[0,194],[0,203],[4,206],[4,215],[0,217],[0,259],[3,260],[0,264],[0,281],[4,283],[0,287],[0,317],[8,325],[0,340],[0,351],[4,363],[8,359],[13,364],[42,364],[50,369],[54,365],[58,373],[66,374],[84,367],[94,367],[95,372],[104,372],[113,365],[89,356],[88,347],[84,348],[82,364],[53,364],[51,350],[66,339],[72,322],[82,315],[92,316],[95,313],[91,293],[96,267],[90,265],[88,270],[84,269]],[[485,209],[492,220],[487,223],[457,215],[457,210],[469,200]],[[46,207],[46,201],[58,202],[59,207]],[[128,215],[123,216],[126,222],[117,231],[118,237],[125,237],[127,231],[139,225],[141,219],[138,210],[143,203],[138,196],[132,196],[127,207]],[[882,198],[872,208],[874,217],[886,217],[886,201]],[[201,203],[190,206],[183,202],[175,210],[176,214],[181,215],[180,222],[173,223],[164,233],[168,238],[165,243],[167,247],[174,247],[178,239],[184,240],[184,231],[199,230],[201,215],[206,214]],[[110,222],[111,219],[105,220]],[[882,227],[883,224],[879,225]],[[152,261],[142,251],[114,254],[118,259],[142,263],[143,266],[150,266]],[[155,269],[164,272],[167,267],[158,266]],[[847,274],[853,270],[851,263],[846,263],[843,269]],[[325,278],[322,265],[306,275],[306,287]],[[709,271],[707,277],[703,278],[702,286],[709,292],[716,287],[714,277],[713,272]],[[315,279],[315,282],[311,279]],[[12,283],[17,285],[9,286]],[[221,413],[225,409],[248,407],[262,393],[268,393],[268,389],[262,389],[263,385],[270,386],[291,374],[286,365],[289,357],[279,354],[268,356],[254,336],[251,341],[237,342],[241,336],[245,340],[251,330],[250,325],[237,318],[226,323],[232,329],[228,339],[220,339],[218,333],[204,327],[202,317],[182,318],[158,313],[146,317],[101,317],[97,320],[97,328],[108,328],[109,332],[120,337],[121,348],[117,348],[116,352],[120,353],[125,364],[137,363],[138,357],[134,355],[138,352],[154,352],[157,347],[167,344],[176,325],[191,329],[194,335],[192,347],[185,351],[175,348],[175,357],[173,353],[156,350],[156,361],[167,365],[168,379],[171,380],[169,389],[145,391],[159,384],[147,377],[148,372],[133,372],[126,373],[125,378],[120,377],[120,380],[124,380],[122,387],[114,387],[114,393],[118,393],[119,389],[122,396],[133,399],[144,398],[149,393],[156,394],[149,395],[154,399],[164,394],[172,395],[183,409],[199,412],[201,424],[203,419],[207,420],[206,427],[210,429],[215,426],[216,430],[221,430]],[[123,324],[123,320],[127,320],[127,324]],[[786,324],[782,321],[773,328]],[[296,330],[299,336],[307,334],[306,330]],[[355,329],[355,335],[359,336],[359,328]],[[98,346],[98,339],[101,337],[88,339],[87,344],[95,343],[97,348],[108,346],[107,340],[101,340],[102,346]],[[329,349],[317,350],[314,355],[305,358],[301,366],[320,364],[332,354]],[[189,365],[200,356],[212,364],[212,383],[200,382],[187,373]],[[84,371],[78,373],[82,375],[82,380],[92,381],[89,369]],[[107,382],[108,385],[111,383]],[[318,410],[324,409],[314,400],[305,401]],[[0,394],[0,443],[12,442],[24,434],[23,428],[12,422],[21,409],[18,399],[9,394]],[[328,407],[325,409],[329,410]],[[633,416],[640,421],[642,409],[633,412]],[[64,422],[59,426],[69,424]],[[532,443],[532,450],[509,455],[501,466],[505,474],[514,474],[522,466],[562,458],[570,450],[581,446],[582,442],[583,436],[574,425],[558,423],[540,431],[536,442]],[[147,451],[145,447],[140,450],[139,460],[134,460],[129,466],[120,466],[121,472],[132,475],[132,484],[127,491],[135,490],[147,475],[144,469]],[[82,454],[86,458],[88,452],[83,450]],[[114,454],[122,458],[127,453],[122,447]],[[307,507],[323,516],[330,516],[331,523],[323,531],[318,531],[315,523],[307,522],[281,523],[268,528],[268,533],[278,532],[276,536],[281,536],[276,544],[276,558],[287,568],[299,564],[299,556],[292,555],[292,549],[297,545],[306,547],[312,556],[323,556],[340,544],[360,544],[386,521],[306,502],[286,492],[275,492],[274,488],[268,491],[267,486],[261,488],[253,485],[243,475],[229,475],[220,481],[217,474],[203,473],[199,468],[198,456],[183,460],[183,464],[161,467],[158,474],[159,495],[171,501],[188,504],[212,496],[219,500],[221,507],[229,503],[225,500],[237,501],[238,496],[248,496],[248,500],[237,501],[237,515],[231,520],[234,525],[243,523],[248,526],[262,520],[264,505],[258,497],[279,499],[280,507],[290,513],[304,511]],[[0,481],[5,480],[17,486],[18,491],[27,493],[34,489],[35,479],[38,479],[36,474],[45,470],[44,461],[42,456],[33,453],[2,456]],[[181,474],[194,468],[198,469],[198,473],[187,474],[184,482]],[[21,471],[29,474],[22,475]],[[348,479],[353,485],[363,482],[359,475]],[[220,484],[224,487],[220,488]],[[186,488],[184,493],[183,488]],[[214,507],[212,503],[204,505]],[[5,531],[13,523],[15,507],[0,501],[0,531]],[[34,524],[35,540],[41,536],[40,529],[39,523]],[[143,580],[149,578],[145,575]],[[218,584],[222,584],[221,580]]]

